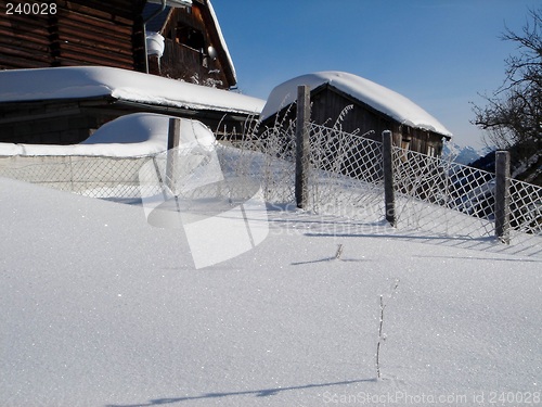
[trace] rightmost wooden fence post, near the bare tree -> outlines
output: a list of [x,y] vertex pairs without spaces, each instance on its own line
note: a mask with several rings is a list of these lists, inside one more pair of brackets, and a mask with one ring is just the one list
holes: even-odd
[[495,153],[495,236],[509,244],[509,152]]

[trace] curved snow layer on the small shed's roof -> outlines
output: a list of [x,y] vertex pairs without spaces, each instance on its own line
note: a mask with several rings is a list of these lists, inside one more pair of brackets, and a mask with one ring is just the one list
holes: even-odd
[[295,102],[298,86],[308,85],[311,89],[315,89],[324,84],[330,84],[401,124],[443,136],[452,136],[439,120],[402,94],[369,79],[344,72],[319,72],[301,75],[279,85],[271,91],[261,112],[261,118],[264,119]]

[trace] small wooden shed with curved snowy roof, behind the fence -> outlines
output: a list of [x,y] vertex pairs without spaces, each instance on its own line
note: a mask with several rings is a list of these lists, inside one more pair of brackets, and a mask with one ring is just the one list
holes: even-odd
[[279,85],[263,107],[261,128],[295,118],[295,109],[289,106],[296,102],[300,85],[311,89],[311,122],[315,124],[333,126],[351,105],[340,123],[346,132],[373,130],[369,137],[380,140],[384,130],[391,130],[396,145],[429,155],[440,155],[442,139],[452,137],[439,120],[405,97],[343,72],[302,75]]

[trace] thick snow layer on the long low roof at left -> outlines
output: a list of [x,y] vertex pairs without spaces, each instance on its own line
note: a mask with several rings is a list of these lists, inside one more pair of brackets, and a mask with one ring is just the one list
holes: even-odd
[[104,66],[0,72],[0,102],[113,97],[154,105],[259,114],[264,101],[228,90]]

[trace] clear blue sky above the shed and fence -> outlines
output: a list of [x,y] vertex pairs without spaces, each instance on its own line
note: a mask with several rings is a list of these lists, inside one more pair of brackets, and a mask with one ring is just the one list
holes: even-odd
[[267,99],[281,82],[345,71],[388,87],[438,118],[463,145],[481,145],[469,102],[504,79],[541,0],[214,0],[238,89]]

